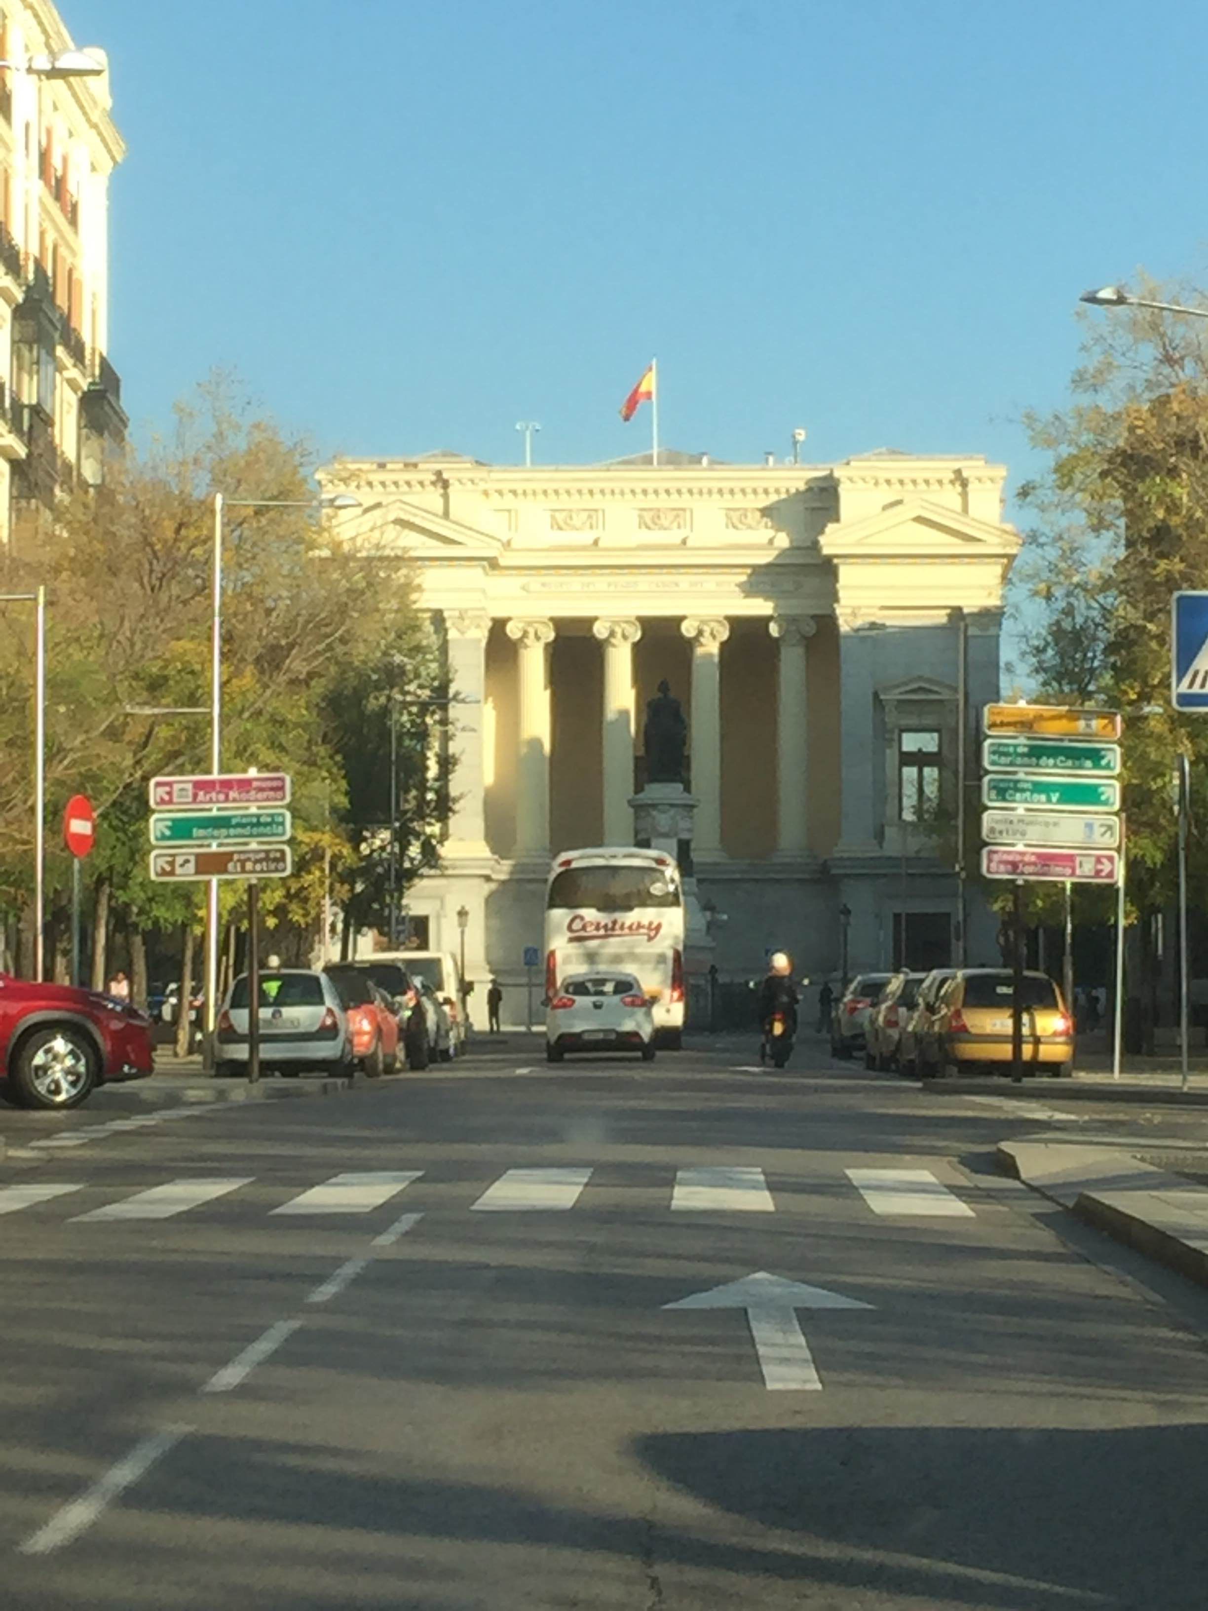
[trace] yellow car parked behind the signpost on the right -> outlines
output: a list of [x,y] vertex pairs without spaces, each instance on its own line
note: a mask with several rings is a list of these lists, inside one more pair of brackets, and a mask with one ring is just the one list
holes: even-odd
[[[1011,1063],[1011,970],[960,968],[944,986],[918,1046],[921,1075],[981,1071]],[[1045,973],[1023,976],[1023,1062],[1034,1073],[1069,1078],[1074,1025]],[[987,1073],[991,1070],[986,1070]]]

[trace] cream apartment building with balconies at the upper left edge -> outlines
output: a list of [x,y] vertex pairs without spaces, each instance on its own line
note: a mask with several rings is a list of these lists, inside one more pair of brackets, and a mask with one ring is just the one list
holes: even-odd
[[127,419],[108,351],[108,188],[126,155],[103,50],[0,0],[0,543],[100,482]]

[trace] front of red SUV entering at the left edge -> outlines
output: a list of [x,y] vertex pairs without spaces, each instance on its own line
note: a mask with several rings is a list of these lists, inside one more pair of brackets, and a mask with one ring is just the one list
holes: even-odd
[[21,1107],[79,1107],[106,1079],[153,1070],[151,1020],[137,1007],[0,973],[0,1076]]

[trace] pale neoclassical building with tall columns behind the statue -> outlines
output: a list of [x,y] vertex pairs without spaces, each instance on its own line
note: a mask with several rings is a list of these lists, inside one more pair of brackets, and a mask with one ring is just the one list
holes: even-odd
[[456,950],[465,907],[470,978],[523,979],[551,852],[633,843],[665,680],[689,723],[705,965],[759,973],[775,946],[815,978],[844,950],[850,971],[992,959],[973,892],[962,933],[952,823],[962,699],[971,735],[999,693],[1005,469],[664,458],[322,472],[361,501],[340,535],[414,567],[469,701],[443,868],[409,892],[420,936]]

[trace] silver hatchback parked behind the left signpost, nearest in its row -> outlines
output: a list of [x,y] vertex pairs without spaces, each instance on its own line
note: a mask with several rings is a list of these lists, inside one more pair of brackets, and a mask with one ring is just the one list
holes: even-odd
[[[248,1065],[248,976],[240,973],[217,1015],[214,1075],[238,1075]],[[298,1075],[353,1073],[353,1037],[332,979],[312,968],[266,968],[259,976],[261,1068]]]

